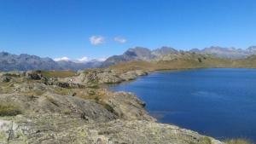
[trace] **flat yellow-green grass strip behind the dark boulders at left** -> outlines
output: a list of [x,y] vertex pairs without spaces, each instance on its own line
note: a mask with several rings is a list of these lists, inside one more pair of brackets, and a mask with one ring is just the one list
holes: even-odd
[[41,74],[46,78],[68,78],[76,75],[73,71],[42,71]]

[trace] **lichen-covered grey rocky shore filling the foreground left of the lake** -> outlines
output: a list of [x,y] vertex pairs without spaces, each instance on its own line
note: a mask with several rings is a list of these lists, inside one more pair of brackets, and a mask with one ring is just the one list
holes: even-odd
[[136,95],[111,92],[143,70],[90,69],[72,77],[44,72],[0,74],[0,143],[221,144],[192,130],[160,124]]

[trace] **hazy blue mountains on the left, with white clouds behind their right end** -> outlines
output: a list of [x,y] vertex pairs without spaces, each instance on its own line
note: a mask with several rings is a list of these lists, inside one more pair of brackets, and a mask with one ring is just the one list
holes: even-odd
[[50,58],[41,58],[36,55],[11,55],[0,53],[0,71],[26,71],[26,70],[79,70],[89,67],[98,67],[99,61],[76,63],[68,60],[55,61]]

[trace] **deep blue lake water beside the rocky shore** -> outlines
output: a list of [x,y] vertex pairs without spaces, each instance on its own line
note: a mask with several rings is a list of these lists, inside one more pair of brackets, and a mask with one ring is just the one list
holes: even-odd
[[133,92],[161,123],[218,139],[256,141],[255,69],[154,72],[110,89]]

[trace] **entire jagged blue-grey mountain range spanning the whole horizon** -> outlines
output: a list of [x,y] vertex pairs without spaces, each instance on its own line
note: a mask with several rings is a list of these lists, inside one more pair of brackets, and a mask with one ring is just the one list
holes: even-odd
[[105,61],[89,60],[78,62],[73,60],[53,60],[41,58],[36,55],[12,55],[7,52],[0,53],[0,71],[27,71],[27,70],[73,70],[85,68],[106,67],[119,62],[131,60],[155,60],[163,55],[179,55],[183,52],[196,53],[201,55],[212,55],[222,59],[244,59],[250,55],[256,55],[256,46],[247,49],[210,47],[205,49],[190,49],[188,51],[177,50],[171,47],[161,47],[150,50],[148,48],[136,47],[127,49],[122,55],[113,55]]

